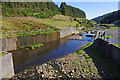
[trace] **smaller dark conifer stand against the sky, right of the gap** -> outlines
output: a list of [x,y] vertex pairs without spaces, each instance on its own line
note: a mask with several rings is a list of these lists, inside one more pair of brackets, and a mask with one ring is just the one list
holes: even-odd
[[80,17],[80,18],[86,17],[84,11],[82,11],[78,8],[66,5],[66,3],[62,3],[60,6],[60,9],[61,9],[61,13],[66,16]]

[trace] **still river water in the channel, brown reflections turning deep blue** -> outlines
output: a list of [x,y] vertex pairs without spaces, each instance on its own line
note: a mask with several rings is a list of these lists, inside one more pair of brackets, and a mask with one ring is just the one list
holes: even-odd
[[86,37],[85,35],[83,34],[82,40],[68,40],[64,38],[44,44],[40,48],[12,51],[15,73],[31,66],[43,64],[51,59],[66,56],[80,49],[83,44],[94,40],[94,37]]

